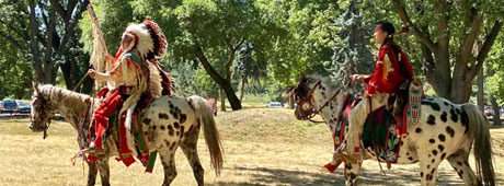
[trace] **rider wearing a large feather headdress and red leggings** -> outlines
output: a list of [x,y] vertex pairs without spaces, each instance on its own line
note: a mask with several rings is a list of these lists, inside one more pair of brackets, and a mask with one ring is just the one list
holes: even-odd
[[[119,49],[115,58],[107,56],[112,69],[88,73],[96,81],[106,81],[96,96],[102,103],[94,111],[90,129],[89,161],[95,161],[104,153],[105,136],[110,130],[110,120],[117,111],[119,159],[129,165],[135,162],[131,154],[135,147],[130,142],[130,132],[136,128],[136,114],[153,98],[170,95],[172,83],[169,74],[158,63],[167,50],[167,39],[158,24],[147,19],[140,24],[129,25],[123,33]],[[148,159],[148,151],[141,152],[140,160]]]

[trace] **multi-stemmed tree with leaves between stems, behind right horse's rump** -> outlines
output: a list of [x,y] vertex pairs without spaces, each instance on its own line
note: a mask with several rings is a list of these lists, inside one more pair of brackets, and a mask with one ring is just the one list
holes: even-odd
[[436,93],[455,103],[467,102],[502,30],[504,3],[392,0],[392,5],[421,44],[424,72]]

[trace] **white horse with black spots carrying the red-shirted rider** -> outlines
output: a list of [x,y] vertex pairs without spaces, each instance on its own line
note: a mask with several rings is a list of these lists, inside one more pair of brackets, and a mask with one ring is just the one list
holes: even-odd
[[[343,119],[341,111],[351,92],[331,84],[317,75],[301,78],[295,90],[298,103],[295,114],[298,119],[307,119],[319,113],[331,131],[340,132],[336,124]],[[421,184],[424,186],[436,185],[437,166],[444,160],[448,160],[466,185],[495,185],[489,123],[478,107],[427,97],[422,100],[421,109],[420,124],[408,126],[406,136],[401,138],[398,164],[420,162]],[[335,143],[339,146],[344,141],[336,138]],[[468,162],[471,146],[478,175]],[[376,152],[366,152],[377,160]],[[335,162],[345,161],[337,159],[339,154],[334,155]],[[346,185],[356,185],[360,166],[359,160],[345,161]]]

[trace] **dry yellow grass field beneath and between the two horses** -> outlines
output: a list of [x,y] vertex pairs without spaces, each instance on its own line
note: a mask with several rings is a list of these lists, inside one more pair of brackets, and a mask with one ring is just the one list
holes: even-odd
[[[321,170],[332,155],[324,125],[298,121],[289,109],[248,108],[219,113],[218,128],[225,148],[225,168],[210,170],[203,138],[198,150],[206,170],[206,185],[343,185],[341,170]],[[66,123],[54,123],[46,140],[27,129],[26,119],[0,120],[0,185],[84,185],[87,167],[70,159],[78,150],[76,132]],[[492,129],[497,185],[504,185],[504,129]],[[173,185],[195,185],[182,152],[176,154],[179,175]],[[385,167],[385,165],[383,165]],[[159,164],[153,174],[136,163],[125,167],[111,160],[113,185],[161,185]],[[378,163],[364,163],[363,185],[420,185],[417,165],[393,165],[383,176]],[[462,185],[447,162],[439,170],[439,185]],[[100,184],[100,181],[99,181]]]

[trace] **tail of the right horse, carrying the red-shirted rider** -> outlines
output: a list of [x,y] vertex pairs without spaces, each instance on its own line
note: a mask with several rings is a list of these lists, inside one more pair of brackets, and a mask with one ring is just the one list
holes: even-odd
[[490,123],[476,105],[466,104],[462,105],[462,109],[467,113],[470,135],[474,139],[473,153],[478,179],[483,185],[493,186],[495,185],[495,172],[492,162]]

